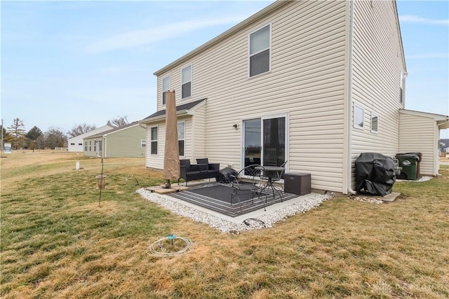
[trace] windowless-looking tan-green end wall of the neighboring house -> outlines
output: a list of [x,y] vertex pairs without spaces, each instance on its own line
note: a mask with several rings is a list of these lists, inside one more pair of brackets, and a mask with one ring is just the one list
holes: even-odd
[[140,125],[107,134],[103,142],[105,158],[145,157],[146,148],[140,144],[145,134],[145,128]]

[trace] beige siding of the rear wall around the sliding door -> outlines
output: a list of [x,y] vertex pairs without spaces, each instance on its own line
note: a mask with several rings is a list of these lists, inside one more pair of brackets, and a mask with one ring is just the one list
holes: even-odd
[[[242,121],[287,115],[288,171],[311,173],[312,188],[342,191],[346,10],[345,1],[292,1],[283,5],[159,74],[158,105],[161,80],[168,74],[177,104],[185,103],[180,100],[180,70],[192,64],[189,101],[207,97],[206,125],[195,126],[195,137],[204,130],[204,153],[209,160],[239,169]],[[272,70],[248,78],[248,34],[268,24]],[[232,127],[234,124],[239,130]],[[190,154],[186,148],[186,155]]]

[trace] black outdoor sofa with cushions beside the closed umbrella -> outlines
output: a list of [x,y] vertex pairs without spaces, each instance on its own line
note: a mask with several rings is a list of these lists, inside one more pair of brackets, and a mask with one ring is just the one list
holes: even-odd
[[196,164],[190,164],[189,159],[180,160],[180,179],[194,181],[198,179],[217,179],[220,174],[219,163],[209,163],[208,158],[196,159]]

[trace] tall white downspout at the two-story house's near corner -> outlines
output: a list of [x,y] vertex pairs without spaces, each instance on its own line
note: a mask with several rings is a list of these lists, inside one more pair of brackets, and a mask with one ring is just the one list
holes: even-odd
[[348,111],[348,152],[347,152],[347,159],[348,159],[348,168],[347,168],[347,192],[351,194],[356,194],[356,191],[352,190],[351,187],[351,173],[352,173],[352,147],[351,147],[351,134],[352,134],[352,127],[351,127],[351,109],[352,109],[352,53],[353,53],[353,39],[354,39],[354,1],[351,1],[351,9],[350,9],[350,22],[349,22],[349,69],[348,69],[348,78],[349,78],[349,92],[348,92],[348,102],[349,102],[349,111]]

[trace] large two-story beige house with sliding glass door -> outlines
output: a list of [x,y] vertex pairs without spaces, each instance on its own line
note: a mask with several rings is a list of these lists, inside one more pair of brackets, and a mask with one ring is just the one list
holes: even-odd
[[[408,119],[426,118],[432,136],[448,127],[447,116],[404,110],[394,1],[276,1],[154,74],[157,112],[140,123],[146,166],[157,169],[166,90],[176,92],[181,158],[234,169],[288,160],[286,171],[310,173],[312,188],[340,193],[353,192],[360,153],[427,146],[400,138]],[[422,174],[438,172],[430,152],[422,163]]]

